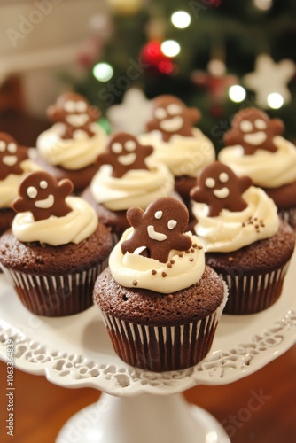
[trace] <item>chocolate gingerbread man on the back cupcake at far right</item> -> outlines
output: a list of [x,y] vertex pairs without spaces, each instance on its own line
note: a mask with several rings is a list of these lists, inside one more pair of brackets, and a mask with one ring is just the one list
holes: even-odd
[[228,146],[243,146],[245,155],[253,155],[257,149],[277,152],[274,137],[284,132],[284,123],[279,119],[269,119],[267,113],[257,108],[239,111],[231,122],[231,129],[224,134]]

